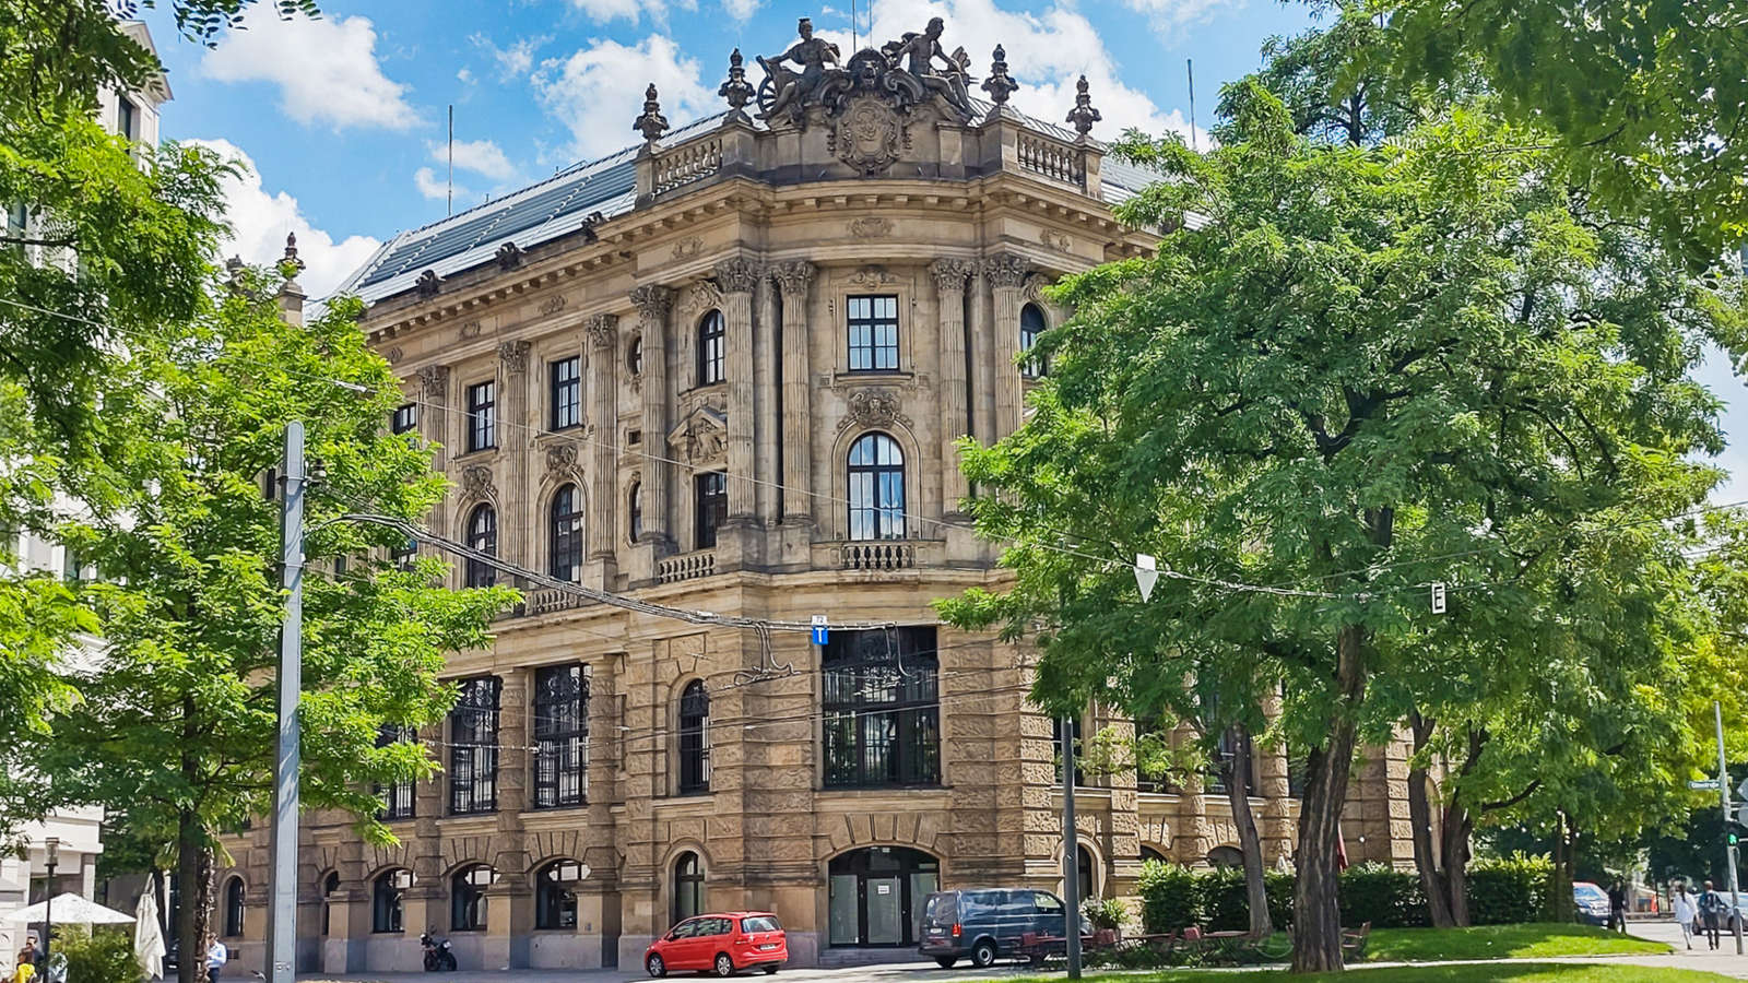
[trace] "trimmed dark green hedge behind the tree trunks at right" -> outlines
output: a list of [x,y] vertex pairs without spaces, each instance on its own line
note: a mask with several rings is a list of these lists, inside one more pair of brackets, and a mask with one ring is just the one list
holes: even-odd
[[[1468,866],[1468,913],[1475,925],[1535,922],[1547,917],[1547,857],[1523,854],[1475,861]],[[1294,876],[1266,871],[1269,920],[1276,929],[1294,920]],[[1250,927],[1245,871],[1238,868],[1190,869],[1182,864],[1141,864],[1141,927],[1148,934],[1185,925],[1243,931]],[[1374,929],[1425,929],[1432,925],[1419,875],[1388,864],[1358,864],[1341,873],[1341,922]]]

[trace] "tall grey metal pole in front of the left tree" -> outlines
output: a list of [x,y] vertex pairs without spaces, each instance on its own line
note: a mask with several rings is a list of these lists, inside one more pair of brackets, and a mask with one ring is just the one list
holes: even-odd
[[[280,754],[273,761],[273,869],[267,878],[267,983],[295,983],[297,974],[297,698],[304,658],[304,425],[285,425],[285,474],[280,479],[280,577],[285,626],[280,628]],[[187,959],[187,955],[184,957]]]

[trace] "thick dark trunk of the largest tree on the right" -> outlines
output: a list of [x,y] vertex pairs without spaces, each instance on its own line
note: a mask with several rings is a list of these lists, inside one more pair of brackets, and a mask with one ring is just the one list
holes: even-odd
[[1294,973],[1341,971],[1341,903],[1335,838],[1348,801],[1348,773],[1356,743],[1356,712],[1365,696],[1365,630],[1348,624],[1335,638],[1341,700],[1323,747],[1311,749],[1299,808],[1299,878],[1294,883]]

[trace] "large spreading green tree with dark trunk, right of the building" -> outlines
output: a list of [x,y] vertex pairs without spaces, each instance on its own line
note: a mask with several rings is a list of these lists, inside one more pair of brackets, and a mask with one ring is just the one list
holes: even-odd
[[[1059,287],[1075,315],[1042,341],[1030,422],[967,446],[979,528],[1017,540],[1014,586],[944,612],[1049,624],[1047,707],[1122,703],[1185,652],[1222,698],[1285,682],[1280,738],[1309,749],[1294,967],[1339,969],[1356,745],[1484,647],[1524,677],[1589,617],[1671,633],[1624,588],[1678,572],[1683,537],[1608,530],[1717,481],[1689,458],[1722,446],[1690,373],[1706,339],[1743,348],[1741,285],[1596,220],[1484,115],[1330,147],[1260,86],[1225,101],[1231,140],[1208,156],[1120,147],[1166,175],[1122,217],[1176,231]],[[1136,553],[1166,570],[1145,605]],[[1456,588],[1437,617],[1432,581]]]

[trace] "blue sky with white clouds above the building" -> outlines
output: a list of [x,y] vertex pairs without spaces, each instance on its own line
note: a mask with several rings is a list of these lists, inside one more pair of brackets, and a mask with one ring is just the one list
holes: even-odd
[[[456,210],[556,168],[633,142],[654,80],[675,124],[717,112],[729,51],[783,51],[795,17],[850,51],[850,0],[325,0],[320,21],[276,21],[271,2],[213,49],[177,38],[168,3],[147,12],[175,101],[163,136],[208,142],[253,173],[229,189],[236,240],[253,262],[297,233],[311,294],[323,294],[400,229],[444,215],[444,142],[454,107]],[[1196,63],[1196,122],[1218,87],[1259,63],[1274,33],[1309,26],[1274,0],[858,0],[857,33],[888,40],[940,16],[947,51],[982,73],[1003,44],[1023,82],[1014,103],[1061,121],[1086,73],[1113,136],[1127,126],[1189,133],[1185,61]],[[1732,406],[1748,444],[1748,394],[1720,360],[1704,380]],[[1748,498],[1745,476],[1715,500]]]

